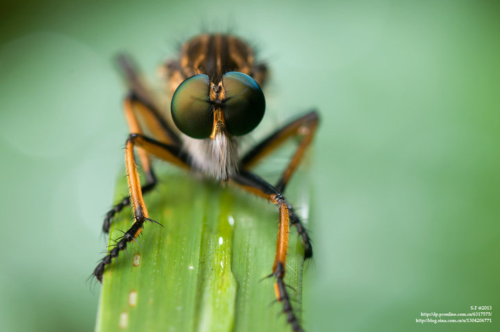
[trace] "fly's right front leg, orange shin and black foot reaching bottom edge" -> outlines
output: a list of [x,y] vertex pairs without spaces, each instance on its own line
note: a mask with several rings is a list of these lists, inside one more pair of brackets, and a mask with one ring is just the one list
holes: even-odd
[[299,319],[297,319],[293,311],[290,295],[288,294],[285,281],[283,280],[285,277],[286,254],[288,249],[288,233],[290,232],[290,204],[285,200],[281,192],[251,172],[242,171],[232,180],[245,190],[260,197],[267,198],[278,206],[278,241],[276,243],[276,256],[274,257],[272,274],[269,276],[274,276],[276,278],[274,292],[276,293],[276,299],[283,305],[283,313],[285,313],[288,323],[292,326],[293,331],[303,331]]

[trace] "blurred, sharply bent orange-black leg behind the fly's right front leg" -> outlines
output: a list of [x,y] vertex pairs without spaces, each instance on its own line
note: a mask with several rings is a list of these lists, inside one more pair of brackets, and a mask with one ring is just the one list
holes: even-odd
[[[303,158],[303,154],[310,142],[313,140],[317,124],[319,122],[319,117],[315,111],[307,113],[292,122],[285,124],[285,126],[278,128],[277,131],[267,136],[260,144],[251,149],[243,158],[241,162],[240,169],[250,169],[253,165],[256,165],[260,160],[262,160],[267,154],[274,151],[286,140],[293,137],[302,136],[302,139],[295,151],[290,163],[286,167],[285,171],[281,175],[281,179],[276,184],[275,188],[279,192],[285,190],[285,186],[290,181],[292,174],[297,170]],[[313,246],[310,243],[310,238],[306,227],[303,226],[300,218],[294,212],[292,206],[288,206],[288,213],[290,215],[290,224],[297,228],[297,233],[302,239],[305,247],[304,258],[310,258],[313,256]]]

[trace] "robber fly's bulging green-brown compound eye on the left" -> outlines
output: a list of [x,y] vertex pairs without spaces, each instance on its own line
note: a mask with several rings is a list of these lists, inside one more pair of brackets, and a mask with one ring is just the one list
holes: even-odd
[[208,138],[213,127],[208,76],[195,75],[183,81],[174,92],[170,110],[180,131],[192,138]]

